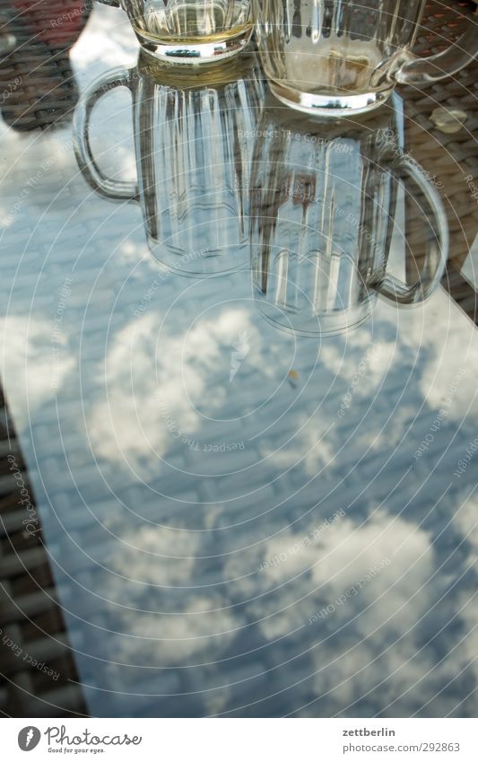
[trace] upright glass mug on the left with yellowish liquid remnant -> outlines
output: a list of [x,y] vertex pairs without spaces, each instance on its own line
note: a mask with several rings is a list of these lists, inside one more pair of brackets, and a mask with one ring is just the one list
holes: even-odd
[[141,46],[174,64],[222,60],[252,34],[249,0],[100,0],[123,8]]

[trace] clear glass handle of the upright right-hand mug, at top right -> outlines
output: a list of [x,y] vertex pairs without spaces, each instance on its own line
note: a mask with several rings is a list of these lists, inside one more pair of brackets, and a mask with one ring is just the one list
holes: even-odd
[[478,55],[478,22],[470,19],[469,23],[464,34],[436,56],[420,58],[408,53],[408,60],[395,73],[395,79],[404,84],[427,84],[465,68]]

